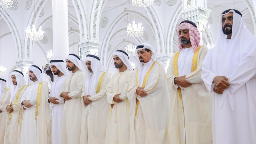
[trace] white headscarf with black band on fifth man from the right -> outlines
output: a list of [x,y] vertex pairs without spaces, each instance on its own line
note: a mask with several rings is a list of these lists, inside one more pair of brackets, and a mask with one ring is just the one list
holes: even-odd
[[[91,62],[92,72],[89,72],[86,66],[86,62]],[[100,76],[103,72],[106,72],[105,68],[100,62],[100,58],[95,55],[87,55],[82,60],[82,66],[85,72],[85,92],[87,95],[95,95],[97,90],[97,84],[100,80]]]

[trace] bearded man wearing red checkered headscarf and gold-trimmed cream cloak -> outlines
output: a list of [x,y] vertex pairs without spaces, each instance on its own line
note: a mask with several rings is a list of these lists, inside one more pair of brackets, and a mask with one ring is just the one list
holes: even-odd
[[179,51],[166,73],[171,102],[169,139],[175,144],[212,143],[212,97],[201,79],[208,48],[200,46],[200,33],[192,21],[182,21],[176,33]]

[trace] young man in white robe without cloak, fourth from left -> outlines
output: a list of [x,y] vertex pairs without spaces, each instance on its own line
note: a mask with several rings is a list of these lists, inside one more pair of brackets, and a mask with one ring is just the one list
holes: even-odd
[[59,95],[63,82],[66,76],[69,75],[69,72],[62,59],[52,59],[49,65],[54,75],[54,81],[48,99],[48,103],[52,107],[52,144],[60,144],[64,99],[59,98]]

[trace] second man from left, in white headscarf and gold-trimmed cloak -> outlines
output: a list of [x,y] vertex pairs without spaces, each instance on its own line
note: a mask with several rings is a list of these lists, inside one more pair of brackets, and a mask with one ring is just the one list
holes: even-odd
[[23,73],[18,70],[12,71],[10,78],[11,98],[10,103],[6,106],[8,117],[4,144],[20,144],[20,130],[24,111],[20,108],[20,99],[28,86]]

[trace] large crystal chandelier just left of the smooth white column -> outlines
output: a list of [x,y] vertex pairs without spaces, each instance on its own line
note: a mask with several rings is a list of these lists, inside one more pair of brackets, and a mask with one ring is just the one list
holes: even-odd
[[36,26],[33,25],[32,29],[30,29],[30,27],[28,26],[26,29],[26,37],[28,38],[28,40],[42,40],[44,38],[44,31],[41,30],[42,27],[39,27],[38,31],[36,31]]

